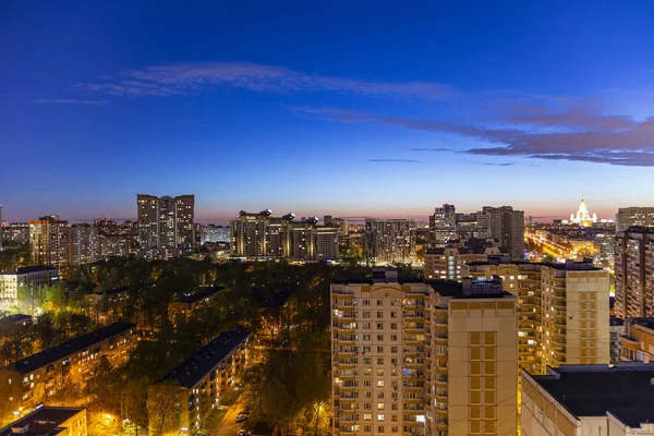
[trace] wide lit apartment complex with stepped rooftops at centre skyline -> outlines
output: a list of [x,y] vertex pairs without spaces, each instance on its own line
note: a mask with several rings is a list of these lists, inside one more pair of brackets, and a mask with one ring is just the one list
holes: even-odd
[[231,249],[235,256],[250,258],[292,258],[299,261],[336,259],[339,229],[318,226],[318,218],[294,221],[295,215],[271,216],[241,211],[230,221]]

